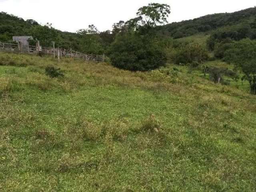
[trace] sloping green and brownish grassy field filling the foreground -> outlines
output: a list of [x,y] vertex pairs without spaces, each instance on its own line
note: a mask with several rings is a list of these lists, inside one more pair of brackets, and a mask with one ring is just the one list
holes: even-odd
[[0,191],[256,191],[256,96],[188,71],[0,53]]

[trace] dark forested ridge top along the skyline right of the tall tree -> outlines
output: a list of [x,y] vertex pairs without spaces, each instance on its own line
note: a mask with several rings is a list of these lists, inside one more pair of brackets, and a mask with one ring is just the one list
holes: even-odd
[[233,13],[210,14],[193,20],[174,22],[165,26],[159,26],[158,31],[173,38],[182,38],[199,32],[216,30],[224,26],[250,24],[255,19],[256,7]]

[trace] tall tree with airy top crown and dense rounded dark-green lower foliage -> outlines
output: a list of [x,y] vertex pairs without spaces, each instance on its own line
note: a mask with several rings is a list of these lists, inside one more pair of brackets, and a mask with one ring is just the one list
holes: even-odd
[[117,34],[110,46],[110,59],[118,68],[131,71],[153,70],[166,63],[166,54],[155,35],[149,29],[167,22],[170,6],[148,4],[140,8],[137,17],[114,24]]

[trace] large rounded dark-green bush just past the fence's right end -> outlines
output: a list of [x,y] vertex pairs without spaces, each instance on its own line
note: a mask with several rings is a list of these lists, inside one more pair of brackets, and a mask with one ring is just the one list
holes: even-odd
[[134,32],[119,35],[110,46],[112,65],[130,71],[154,70],[166,64],[164,49],[152,36]]

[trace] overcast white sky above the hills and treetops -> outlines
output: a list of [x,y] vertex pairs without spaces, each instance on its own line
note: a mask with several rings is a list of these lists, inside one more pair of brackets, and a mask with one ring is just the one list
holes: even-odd
[[150,2],[171,6],[169,22],[256,6],[255,0],[0,0],[0,11],[41,24],[49,22],[62,31],[76,32],[89,24],[103,31],[114,22],[135,17],[138,8]]

